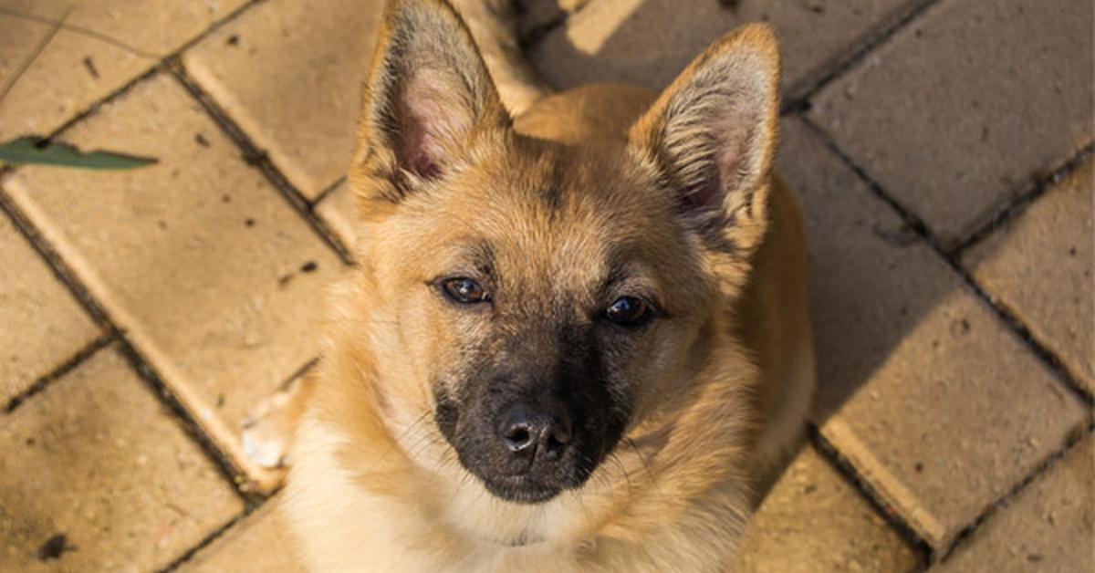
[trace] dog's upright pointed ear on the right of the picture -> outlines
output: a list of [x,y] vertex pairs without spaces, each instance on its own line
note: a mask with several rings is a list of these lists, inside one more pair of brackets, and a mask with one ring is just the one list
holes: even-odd
[[763,237],[779,111],[775,34],[751,24],[707,48],[632,127],[633,151],[708,247],[748,253]]

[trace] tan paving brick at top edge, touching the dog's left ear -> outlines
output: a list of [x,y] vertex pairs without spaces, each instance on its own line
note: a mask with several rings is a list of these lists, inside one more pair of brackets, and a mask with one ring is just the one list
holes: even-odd
[[381,0],[273,0],[183,56],[309,198],[349,167]]

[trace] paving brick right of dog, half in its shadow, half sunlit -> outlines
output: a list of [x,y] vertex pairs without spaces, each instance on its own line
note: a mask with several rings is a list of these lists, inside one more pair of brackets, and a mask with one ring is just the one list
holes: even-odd
[[810,252],[815,420],[945,548],[1086,409],[808,128],[785,128],[780,164]]

